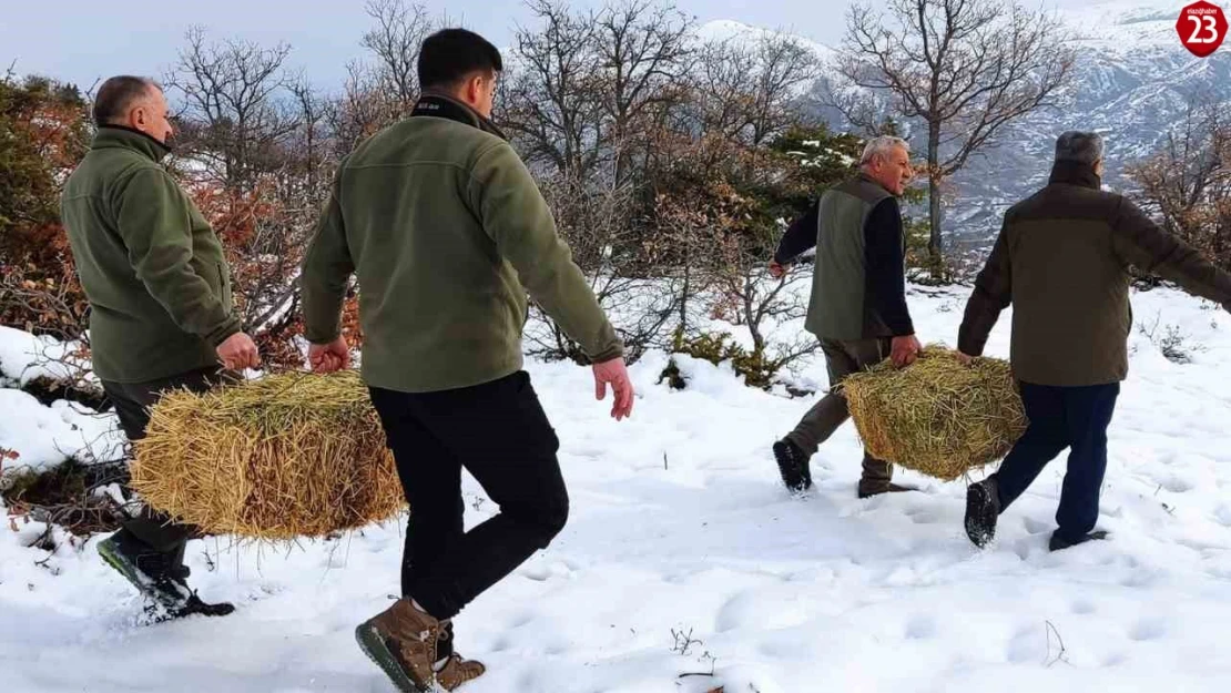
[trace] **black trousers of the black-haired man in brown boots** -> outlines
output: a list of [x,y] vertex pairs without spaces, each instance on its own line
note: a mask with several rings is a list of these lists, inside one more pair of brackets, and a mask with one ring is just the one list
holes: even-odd
[[[452,618],[564,528],[559,439],[524,372],[437,393],[372,388],[372,403],[410,502],[403,595]],[[463,468],[500,506],[470,532],[462,523]]]

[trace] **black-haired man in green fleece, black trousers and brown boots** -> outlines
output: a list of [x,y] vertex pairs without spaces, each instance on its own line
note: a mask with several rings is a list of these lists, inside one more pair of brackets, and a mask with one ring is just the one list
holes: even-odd
[[[303,266],[316,371],[348,364],[340,313],[359,287],[363,378],[414,508],[403,598],[357,629],[403,689],[453,689],[483,673],[452,646],[449,619],[564,527],[559,441],[522,371],[527,292],[633,406],[623,347],[555,231],[529,171],[491,123],[499,50],[444,30],[419,58],[411,117],[343,161]],[[462,469],[500,505],[463,531]]]

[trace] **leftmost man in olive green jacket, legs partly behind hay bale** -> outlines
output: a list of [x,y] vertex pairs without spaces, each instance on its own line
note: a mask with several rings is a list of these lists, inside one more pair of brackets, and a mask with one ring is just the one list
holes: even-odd
[[[94,144],[64,186],[62,218],[90,300],[94,369],[128,438],[167,389],[204,390],[259,363],[231,310],[222,245],[161,166],[167,103],[153,81],[117,76],[94,106]],[[183,550],[194,528],[143,508],[98,544],[103,559],[170,615],[225,614],[188,590]]]

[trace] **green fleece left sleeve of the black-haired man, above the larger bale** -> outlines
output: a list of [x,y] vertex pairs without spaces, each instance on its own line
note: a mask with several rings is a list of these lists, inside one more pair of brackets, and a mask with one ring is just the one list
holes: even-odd
[[304,338],[329,343],[342,334],[342,302],[355,262],[342,223],[341,181],[345,162],[334,178],[334,190],[316,222],[299,273],[303,292]]

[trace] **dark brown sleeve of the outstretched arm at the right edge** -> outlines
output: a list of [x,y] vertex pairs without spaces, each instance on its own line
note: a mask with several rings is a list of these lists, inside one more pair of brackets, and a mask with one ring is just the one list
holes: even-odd
[[1158,274],[1224,306],[1231,305],[1231,274],[1219,270],[1193,246],[1160,229],[1128,199],[1120,201],[1112,225],[1112,242],[1124,265]]

